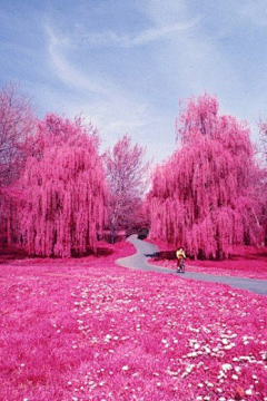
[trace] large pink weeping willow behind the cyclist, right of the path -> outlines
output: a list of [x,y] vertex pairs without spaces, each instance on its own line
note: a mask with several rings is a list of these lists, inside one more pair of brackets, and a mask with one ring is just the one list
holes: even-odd
[[148,196],[151,236],[194,257],[228,257],[261,233],[249,129],[218,108],[207,94],[188,101],[177,121],[180,147],[156,169]]

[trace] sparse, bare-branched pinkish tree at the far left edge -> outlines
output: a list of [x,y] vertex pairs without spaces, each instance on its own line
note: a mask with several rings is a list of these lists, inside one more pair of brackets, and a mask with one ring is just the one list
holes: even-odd
[[9,84],[0,91],[0,243],[10,245],[13,235],[17,193],[11,185],[23,172],[34,134],[30,100]]

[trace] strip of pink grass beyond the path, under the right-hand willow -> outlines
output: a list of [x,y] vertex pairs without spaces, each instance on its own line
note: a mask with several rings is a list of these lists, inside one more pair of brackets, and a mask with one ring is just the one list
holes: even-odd
[[[169,251],[164,243],[157,243],[160,251]],[[150,260],[149,263],[168,268],[176,268],[176,261]],[[188,272],[199,272],[215,275],[267,280],[267,247],[239,246],[227,261],[186,261]]]

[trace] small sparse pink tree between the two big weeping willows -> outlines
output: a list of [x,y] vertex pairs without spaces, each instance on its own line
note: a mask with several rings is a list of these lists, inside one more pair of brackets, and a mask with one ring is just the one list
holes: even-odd
[[112,241],[116,232],[146,224],[142,198],[149,163],[145,162],[146,149],[123,135],[103,156],[107,180],[110,187],[109,228]]

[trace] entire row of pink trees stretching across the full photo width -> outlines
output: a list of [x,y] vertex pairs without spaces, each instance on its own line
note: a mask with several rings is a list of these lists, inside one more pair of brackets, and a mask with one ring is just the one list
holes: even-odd
[[[266,155],[265,123],[260,133]],[[81,118],[39,120],[16,85],[1,90],[1,246],[69,257],[95,252],[103,232],[113,241],[134,226],[195,257],[224,258],[234,245],[266,241],[266,165],[249,127],[220,116],[216,98],[189,99],[177,150],[152,178],[145,148],[128,135],[103,155],[100,140]]]

